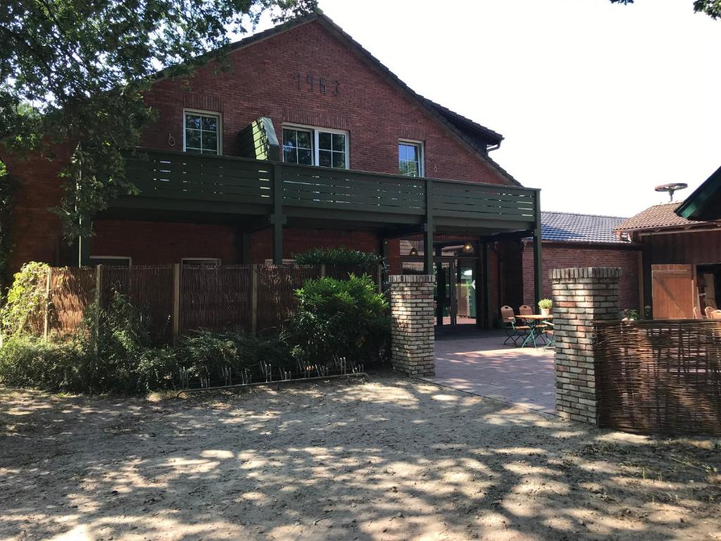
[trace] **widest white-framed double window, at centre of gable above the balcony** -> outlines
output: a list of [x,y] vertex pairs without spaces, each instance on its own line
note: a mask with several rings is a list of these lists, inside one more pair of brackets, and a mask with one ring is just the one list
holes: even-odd
[[313,126],[283,126],[283,162],[348,169],[348,132]]

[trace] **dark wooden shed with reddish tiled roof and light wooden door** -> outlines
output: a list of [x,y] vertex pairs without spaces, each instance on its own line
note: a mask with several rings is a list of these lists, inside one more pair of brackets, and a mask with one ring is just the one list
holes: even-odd
[[689,207],[685,202],[650,206],[617,227],[619,235],[642,247],[643,295],[655,319],[690,319],[694,307],[699,314],[721,307],[721,220],[676,214]]

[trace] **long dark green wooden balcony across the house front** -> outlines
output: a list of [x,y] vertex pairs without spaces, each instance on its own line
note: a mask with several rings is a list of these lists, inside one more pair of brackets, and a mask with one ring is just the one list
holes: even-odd
[[139,193],[113,203],[123,216],[267,216],[270,223],[348,227],[353,221],[389,232],[430,225],[436,233],[479,235],[531,232],[539,218],[539,190],[533,188],[151,149],[129,157],[127,171]]

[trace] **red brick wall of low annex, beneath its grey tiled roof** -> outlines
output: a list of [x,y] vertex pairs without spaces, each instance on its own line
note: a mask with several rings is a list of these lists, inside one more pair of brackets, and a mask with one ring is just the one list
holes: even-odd
[[[571,243],[543,243],[543,294],[551,298],[549,271],[554,268],[572,267],[620,267],[621,307],[639,309],[637,248],[572,245]],[[523,247],[523,303],[534,306],[534,247],[528,242]]]

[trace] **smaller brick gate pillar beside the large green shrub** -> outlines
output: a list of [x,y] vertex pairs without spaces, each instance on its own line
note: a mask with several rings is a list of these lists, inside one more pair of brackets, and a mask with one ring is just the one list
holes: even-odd
[[435,375],[433,282],[435,276],[389,276],[391,361],[409,376]]

